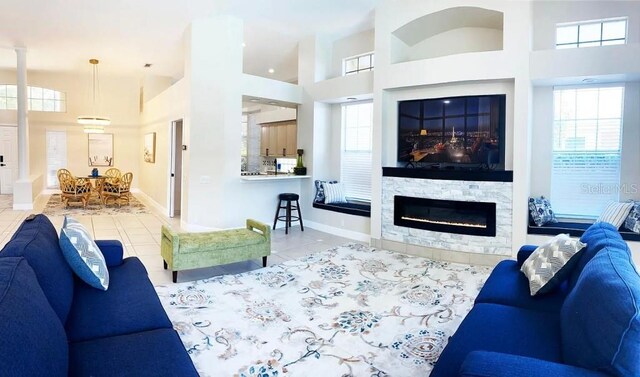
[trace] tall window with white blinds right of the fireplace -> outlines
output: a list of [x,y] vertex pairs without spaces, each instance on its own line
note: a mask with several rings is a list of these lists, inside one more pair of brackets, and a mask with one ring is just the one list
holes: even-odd
[[620,191],[623,87],[554,90],[551,200],[560,217],[597,217]]

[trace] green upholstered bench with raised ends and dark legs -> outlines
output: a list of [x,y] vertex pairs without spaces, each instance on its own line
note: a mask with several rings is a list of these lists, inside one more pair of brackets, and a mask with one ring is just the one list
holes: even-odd
[[164,268],[173,271],[173,282],[178,271],[213,267],[262,257],[267,266],[271,254],[271,229],[267,224],[247,219],[247,228],[217,230],[201,233],[176,233],[162,226],[160,254]]

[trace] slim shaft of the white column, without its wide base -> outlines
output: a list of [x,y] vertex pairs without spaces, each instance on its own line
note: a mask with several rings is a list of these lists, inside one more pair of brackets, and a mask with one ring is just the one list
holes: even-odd
[[27,120],[27,49],[16,48],[18,76],[18,180],[29,179],[29,121]]

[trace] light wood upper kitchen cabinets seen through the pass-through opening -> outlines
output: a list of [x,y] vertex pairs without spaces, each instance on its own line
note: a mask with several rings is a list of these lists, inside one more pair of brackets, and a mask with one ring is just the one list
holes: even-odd
[[296,156],[298,127],[295,121],[264,123],[260,132],[260,155]]

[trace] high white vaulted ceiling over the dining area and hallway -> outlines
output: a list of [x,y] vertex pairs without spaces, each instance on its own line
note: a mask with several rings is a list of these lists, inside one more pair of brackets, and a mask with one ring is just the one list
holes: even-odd
[[[378,0],[2,0],[0,69],[15,68],[14,47],[27,48],[30,70],[89,70],[182,77],[183,32],[197,18],[229,14],[244,21],[244,72],[297,77],[297,43],[373,27]],[[275,73],[267,73],[269,68]]]

